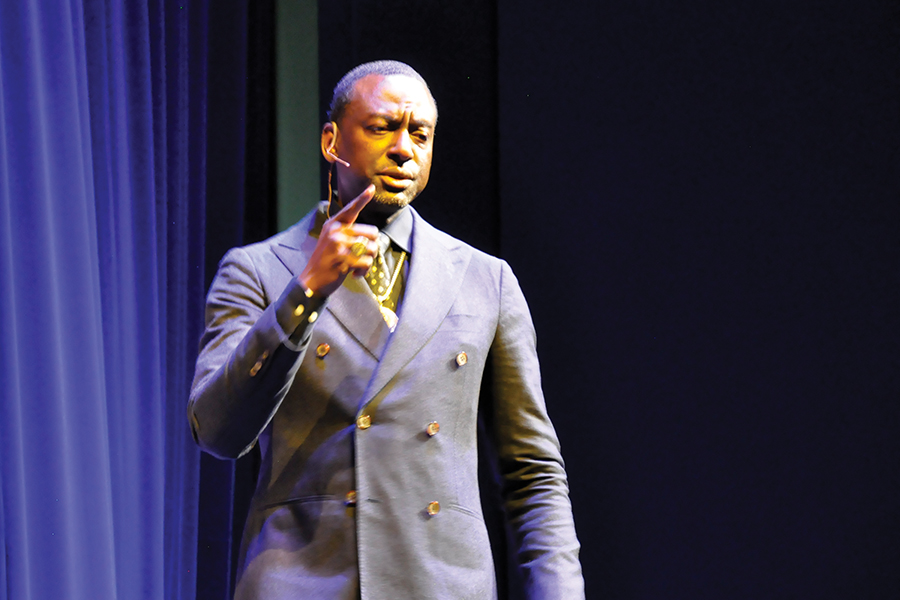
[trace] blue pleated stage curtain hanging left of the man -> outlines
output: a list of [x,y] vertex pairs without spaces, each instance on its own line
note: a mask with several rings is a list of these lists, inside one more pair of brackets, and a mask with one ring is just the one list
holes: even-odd
[[0,597],[193,598],[206,1],[0,2]]

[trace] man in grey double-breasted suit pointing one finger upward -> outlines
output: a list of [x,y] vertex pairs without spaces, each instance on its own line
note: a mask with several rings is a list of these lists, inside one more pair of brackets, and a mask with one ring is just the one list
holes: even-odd
[[403,63],[367,63],[329,118],[337,200],[231,250],[207,298],[194,436],[219,457],[256,442],[262,456],[236,598],[496,597],[479,413],[530,597],[583,597],[518,283],[408,206],[431,168],[428,86]]

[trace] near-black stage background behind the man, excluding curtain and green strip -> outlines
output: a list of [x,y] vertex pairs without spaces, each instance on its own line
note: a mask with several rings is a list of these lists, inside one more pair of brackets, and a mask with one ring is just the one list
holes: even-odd
[[[253,117],[240,189],[271,197],[251,4],[210,54],[244,44],[255,83],[217,96],[245,73],[213,58],[209,111]],[[334,0],[319,48],[323,119],[360,62],[431,85],[415,206],[519,276],[588,598],[900,597],[896,2]],[[246,213],[210,247],[269,233]]]

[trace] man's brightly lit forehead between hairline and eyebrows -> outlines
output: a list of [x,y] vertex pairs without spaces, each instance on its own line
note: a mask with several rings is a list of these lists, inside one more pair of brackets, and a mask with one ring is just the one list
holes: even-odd
[[406,75],[366,75],[353,86],[348,108],[365,114],[412,112],[434,121],[437,110],[424,83]]

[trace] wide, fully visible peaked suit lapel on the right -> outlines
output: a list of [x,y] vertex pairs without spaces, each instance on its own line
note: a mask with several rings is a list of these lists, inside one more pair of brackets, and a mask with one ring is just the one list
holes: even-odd
[[[415,211],[412,214],[412,259],[400,307],[400,322],[388,339],[361,406],[371,402],[431,339],[450,311],[471,260],[471,252],[467,252],[465,246],[442,243],[431,225]],[[378,320],[383,321],[377,308],[375,312]]]

